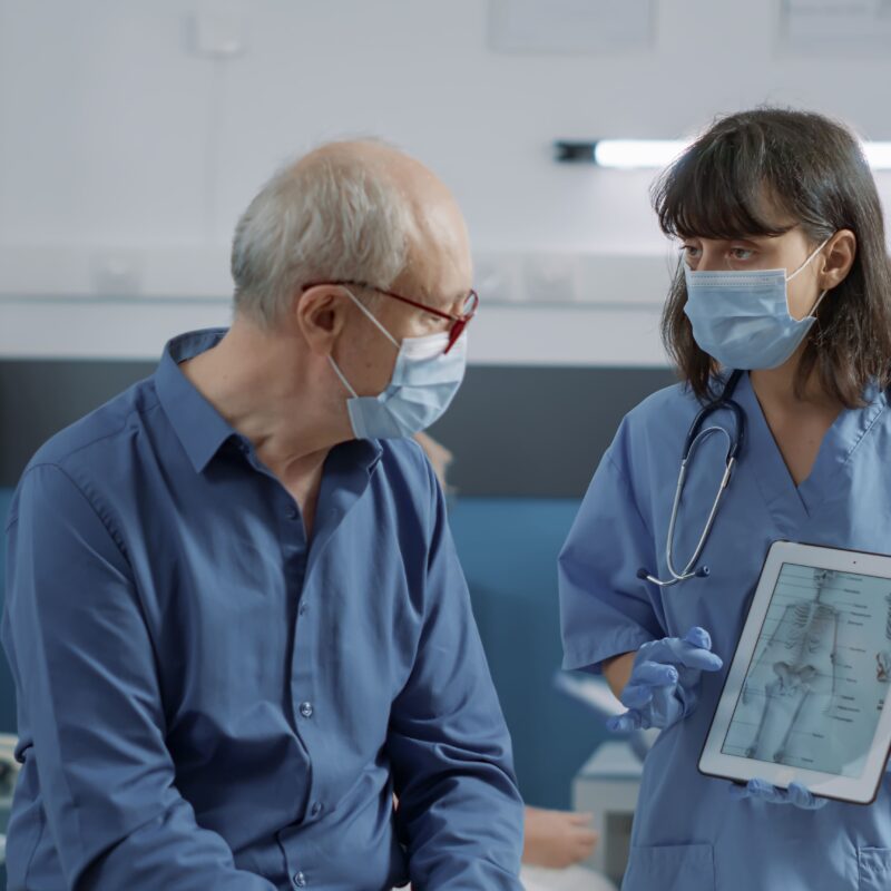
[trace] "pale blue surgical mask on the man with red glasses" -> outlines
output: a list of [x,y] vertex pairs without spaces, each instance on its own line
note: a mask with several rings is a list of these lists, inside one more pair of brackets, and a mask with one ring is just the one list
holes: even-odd
[[467,369],[467,333],[447,354],[449,335],[405,337],[400,343],[349,291],[356,306],[398,350],[396,364],[386,389],[378,396],[360,396],[333,358],[332,368],[350,391],[346,401],[356,439],[413,437],[438,421],[449,408]]

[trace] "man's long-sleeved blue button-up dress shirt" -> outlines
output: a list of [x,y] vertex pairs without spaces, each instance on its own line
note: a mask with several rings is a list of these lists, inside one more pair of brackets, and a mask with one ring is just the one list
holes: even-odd
[[520,889],[510,740],[429,463],[333,449],[307,539],[177,368],[224,333],[172,341],[17,490],[10,891]]

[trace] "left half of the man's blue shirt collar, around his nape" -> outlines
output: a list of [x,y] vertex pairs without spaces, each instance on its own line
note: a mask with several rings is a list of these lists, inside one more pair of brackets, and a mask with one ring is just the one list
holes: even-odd
[[204,471],[229,437],[238,434],[183,374],[179,363],[216,346],[225,333],[226,329],[207,329],[174,337],[164,347],[155,372],[160,404],[197,473]]

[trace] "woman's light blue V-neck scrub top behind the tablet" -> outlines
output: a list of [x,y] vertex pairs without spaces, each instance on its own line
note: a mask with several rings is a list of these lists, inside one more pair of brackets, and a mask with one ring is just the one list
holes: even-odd
[[[647,640],[701,625],[725,669],[704,674],[698,709],[663,732],[646,760],[623,891],[878,891],[891,888],[891,787],[869,806],[830,802],[802,811],[733,801],[730,783],[697,771],[726,670],[770,545],[777,539],[891,552],[891,412],[872,390],[844,411],[799,487],[744,375],[735,394],[746,441],[705,548],[707,578],[659,589],[684,439],[702,408],[674,386],[624,420],[600,462],[560,555],[565,667],[598,669]],[[728,430],[731,412],[713,415]],[[711,437],[691,462],[675,564],[693,554],[724,471],[726,440]]]

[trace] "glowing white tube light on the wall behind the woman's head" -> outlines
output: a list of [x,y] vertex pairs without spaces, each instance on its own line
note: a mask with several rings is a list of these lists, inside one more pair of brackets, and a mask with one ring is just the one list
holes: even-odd
[[[558,140],[555,158],[562,164],[596,164],[616,170],[667,167],[687,146],[685,139]],[[873,170],[891,170],[891,143],[863,143],[863,154]]]

